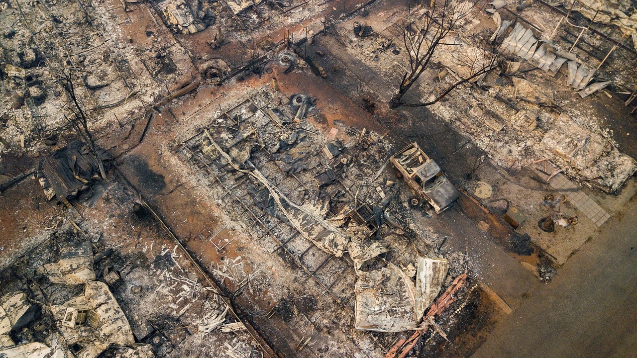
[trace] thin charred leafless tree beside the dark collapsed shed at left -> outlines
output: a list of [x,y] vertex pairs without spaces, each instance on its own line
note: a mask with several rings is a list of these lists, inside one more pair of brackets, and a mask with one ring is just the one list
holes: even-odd
[[82,137],[82,140],[84,140],[85,143],[89,144],[90,152],[95,155],[95,158],[97,159],[97,165],[99,166],[99,175],[102,177],[103,180],[106,180],[106,171],[104,171],[104,164],[99,155],[99,152],[97,151],[95,138],[89,130],[89,117],[83,110],[80,99],[75,92],[75,85],[73,85],[73,79],[71,78],[71,75],[62,71],[61,75],[59,75],[57,78],[57,83],[59,83],[62,89],[64,89],[67,101],[69,102],[68,107],[71,111],[71,117],[64,115],[64,118],[66,118],[69,124],[73,126],[78,135]]

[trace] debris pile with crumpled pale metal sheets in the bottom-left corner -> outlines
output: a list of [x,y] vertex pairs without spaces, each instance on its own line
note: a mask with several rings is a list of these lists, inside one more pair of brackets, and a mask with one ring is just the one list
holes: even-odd
[[[0,357],[96,358],[113,346],[120,347],[115,357],[154,357],[150,346],[135,343],[109,286],[96,281],[90,241],[63,247],[59,257],[39,266],[28,297],[0,299]],[[47,282],[56,286],[45,294],[40,284]]]

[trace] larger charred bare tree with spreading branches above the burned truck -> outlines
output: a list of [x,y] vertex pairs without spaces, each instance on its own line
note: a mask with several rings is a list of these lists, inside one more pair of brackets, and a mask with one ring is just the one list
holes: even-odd
[[[406,69],[397,94],[389,101],[390,108],[422,107],[437,103],[455,88],[472,82],[489,72],[499,64],[499,45],[496,39],[492,43],[480,44],[477,38],[469,39],[469,43],[455,41],[450,34],[459,30],[471,21],[475,4],[454,0],[431,0],[427,11],[420,17],[414,17],[412,11],[403,20],[403,46],[409,55],[409,66]],[[421,103],[405,103],[403,96],[412,88],[420,76],[432,65],[436,64],[436,55],[444,47],[458,47],[454,51],[454,61],[469,69],[454,83],[431,101]],[[467,51],[467,52],[465,52]]]

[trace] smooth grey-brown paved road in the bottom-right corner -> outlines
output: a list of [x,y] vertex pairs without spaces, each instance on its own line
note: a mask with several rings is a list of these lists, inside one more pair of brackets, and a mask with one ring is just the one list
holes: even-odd
[[637,357],[637,197],[472,358]]

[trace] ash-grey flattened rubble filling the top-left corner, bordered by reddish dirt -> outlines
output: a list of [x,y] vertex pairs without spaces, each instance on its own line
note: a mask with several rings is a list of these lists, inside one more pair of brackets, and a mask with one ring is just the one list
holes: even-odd
[[20,1],[2,13],[0,152],[39,152],[72,133],[67,117],[76,104],[60,85],[64,78],[73,82],[90,129],[112,131],[131,125],[145,104],[167,95],[167,85],[181,82],[174,75],[192,68],[180,45],[166,45],[169,39],[154,36],[151,46],[137,48],[104,4]]

